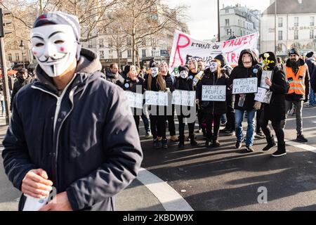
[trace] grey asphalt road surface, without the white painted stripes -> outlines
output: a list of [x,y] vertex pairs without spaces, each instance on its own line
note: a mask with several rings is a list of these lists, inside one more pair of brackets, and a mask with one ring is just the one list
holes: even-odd
[[[316,210],[316,108],[303,110],[303,134],[308,138],[303,146],[294,141],[295,117],[288,119],[287,156],[282,158],[270,156],[276,148],[261,150],[265,139],[255,140],[254,153],[236,150],[235,136],[220,136],[216,149],[204,147],[202,136],[197,136],[195,148],[187,142],[179,150],[170,142],[169,149],[154,150],[152,140],[143,139],[141,125],[142,167],[169,184],[193,210]],[[20,193],[3,170],[0,167],[0,210],[16,210]],[[258,198],[266,203],[258,203]],[[118,210],[164,210],[137,180],[119,194],[117,205]]]

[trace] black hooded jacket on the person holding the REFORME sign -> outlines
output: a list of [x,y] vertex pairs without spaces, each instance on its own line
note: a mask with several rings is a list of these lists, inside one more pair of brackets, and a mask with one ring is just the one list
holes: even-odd
[[[242,56],[244,55],[244,53],[249,53],[251,55],[251,58],[252,58],[251,68],[244,68],[244,64],[242,63]],[[262,75],[262,68],[260,65],[258,65],[258,61],[256,60],[256,56],[254,56],[254,52],[251,51],[251,49],[244,49],[240,53],[237,67],[235,67],[234,70],[232,70],[232,73],[230,74],[230,84],[232,84],[232,81],[234,79],[258,77],[258,86],[259,86],[261,82],[261,75]],[[238,106],[239,97],[240,97],[239,94],[235,95],[235,106],[234,106],[235,110],[242,110],[242,111],[254,110],[255,94],[246,94],[246,99],[244,101],[243,107]]]

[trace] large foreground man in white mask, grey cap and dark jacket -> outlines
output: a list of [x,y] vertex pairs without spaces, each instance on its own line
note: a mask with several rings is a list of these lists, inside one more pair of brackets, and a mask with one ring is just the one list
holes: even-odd
[[31,39],[37,80],[13,101],[2,153],[23,193],[19,210],[32,199],[49,201],[53,187],[57,195],[39,210],[114,210],[143,157],[123,90],[99,72],[96,53],[81,49],[76,16],[40,15]]

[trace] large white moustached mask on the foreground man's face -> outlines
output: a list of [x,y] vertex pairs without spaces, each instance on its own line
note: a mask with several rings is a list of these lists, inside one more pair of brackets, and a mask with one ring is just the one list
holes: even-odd
[[70,25],[46,25],[31,32],[32,51],[49,77],[58,77],[70,68],[77,55],[77,40]]

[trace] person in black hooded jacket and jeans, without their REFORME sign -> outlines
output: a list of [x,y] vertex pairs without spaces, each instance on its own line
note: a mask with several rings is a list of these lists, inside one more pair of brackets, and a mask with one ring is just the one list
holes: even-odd
[[[258,65],[256,56],[251,49],[244,49],[239,56],[237,67],[230,74],[230,82],[234,79],[242,79],[249,77],[258,78],[258,86],[260,86],[262,68]],[[247,112],[248,128],[246,133],[246,152],[253,152],[254,144],[254,128],[256,121],[256,110],[261,107],[261,104],[254,100],[255,94],[236,94],[235,95],[235,133],[237,137],[236,148],[242,147],[244,135],[242,134],[242,120],[244,111]]]

